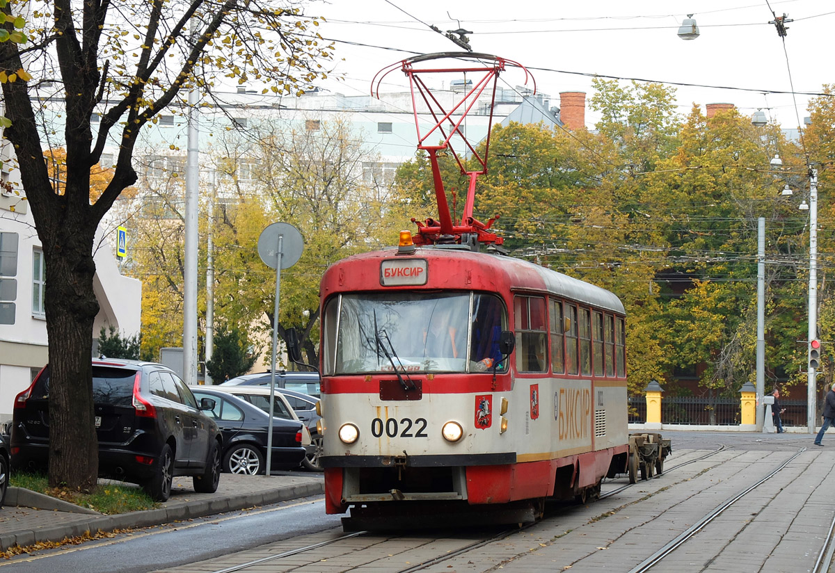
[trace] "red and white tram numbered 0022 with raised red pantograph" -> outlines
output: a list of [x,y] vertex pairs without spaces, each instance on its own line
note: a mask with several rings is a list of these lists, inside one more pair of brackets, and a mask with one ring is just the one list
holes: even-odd
[[[416,63],[442,56],[402,69],[412,78]],[[485,69],[498,76],[505,63]],[[452,113],[436,118],[458,133]],[[546,500],[594,496],[627,467],[623,304],[503,254],[494,219],[472,213],[486,148],[479,171],[459,162],[471,184],[453,224],[435,156],[449,137],[425,140],[438,221],[321,279],[321,463],[326,510],[351,508],[347,529],[397,515],[411,525],[535,520]]]

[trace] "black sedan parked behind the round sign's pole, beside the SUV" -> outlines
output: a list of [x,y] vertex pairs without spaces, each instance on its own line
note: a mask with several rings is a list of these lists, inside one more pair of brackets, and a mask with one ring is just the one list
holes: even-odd
[[[228,391],[211,386],[192,386],[197,400],[215,400],[214,410],[207,410],[220,426],[223,436],[222,469],[232,474],[263,474],[266,471],[266,442],[270,416],[260,408]],[[291,470],[305,460],[302,443],[306,428],[286,411],[276,411],[272,419],[271,470]]]

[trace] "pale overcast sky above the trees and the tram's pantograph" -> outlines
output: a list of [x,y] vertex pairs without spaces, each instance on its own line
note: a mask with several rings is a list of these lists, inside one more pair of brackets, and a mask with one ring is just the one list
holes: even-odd
[[[793,128],[808,115],[805,93],[835,83],[832,0],[334,0],[311,3],[306,13],[328,19],[320,33],[337,40],[337,59],[344,58],[334,74],[344,79],[323,87],[346,95],[369,93],[374,74],[403,58],[460,50],[431,25],[464,28],[474,52],[524,64],[554,104],[564,91],[591,97],[584,74],[700,84],[706,87],[673,86],[680,113],[692,103],[734,103],[746,115],[763,108]],[[701,36],[684,41],[677,31],[689,13]],[[785,38],[769,23],[775,13],[794,20]],[[502,79],[523,80],[518,73]],[[401,72],[390,74],[381,91],[397,90],[402,80]],[[594,121],[587,113],[587,125]]]

